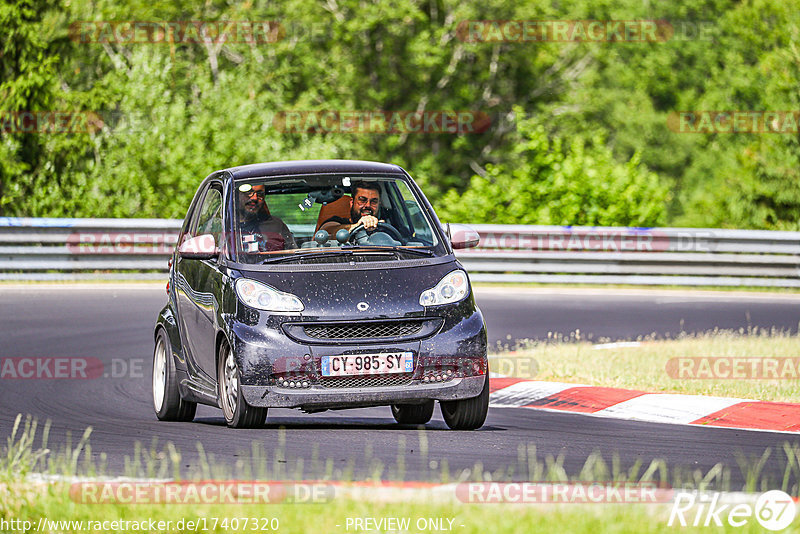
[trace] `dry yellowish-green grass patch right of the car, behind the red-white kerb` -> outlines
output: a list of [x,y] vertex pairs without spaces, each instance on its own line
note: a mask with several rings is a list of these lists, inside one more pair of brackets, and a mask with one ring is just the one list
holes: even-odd
[[[636,389],[648,392],[686,393],[719,397],[738,397],[763,401],[800,401],[800,335],[757,328],[739,331],[715,330],[676,339],[640,338],[633,343],[602,346],[581,339],[580,332],[547,341],[526,341],[513,348],[498,347],[490,355],[490,368],[501,374],[536,380],[594,386]],[[598,346],[599,345],[599,346]],[[676,373],[679,360],[688,358],[728,358],[741,362],[739,371],[722,366],[715,374],[713,360],[694,360],[691,372]],[[763,361],[778,360],[777,374],[769,378],[748,378],[749,369],[763,369]],[[670,363],[671,362],[671,363]],[[670,367],[668,367],[668,365]],[[670,372],[669,369],[672,369]],[[709,374],[706,371],[711,371]],[[727,371],[727,373],[726,373]],[[708,378],[727,375],[730,378]],[[738,376],[738,378],[737,378]],[[783,376],[785,378],[772,378]]]

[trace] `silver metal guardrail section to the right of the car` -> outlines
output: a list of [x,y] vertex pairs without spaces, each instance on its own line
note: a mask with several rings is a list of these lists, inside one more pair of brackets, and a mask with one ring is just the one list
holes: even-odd
[[800,232],[472,225],[477,281],[800,287]]

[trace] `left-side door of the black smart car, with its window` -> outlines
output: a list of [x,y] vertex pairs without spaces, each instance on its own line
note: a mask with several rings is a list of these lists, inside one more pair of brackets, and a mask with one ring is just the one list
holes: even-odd
[[[217,247],[222,234],[222,189],[212,182],[205,192],[190,225],[189,237],[214,236]],[[207,377],[216,378],[217,310],[220,305],[221,272],[219,258],[178,259],[176,283],[178,309],[186,344],[193,363]]]

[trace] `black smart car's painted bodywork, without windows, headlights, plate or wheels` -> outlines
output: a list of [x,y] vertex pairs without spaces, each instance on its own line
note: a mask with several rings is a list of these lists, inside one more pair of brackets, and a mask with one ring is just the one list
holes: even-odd
[[[314,173],[363,173],[403,180],[429,218],[444,253],[401,258],[377,251],[369,261],[348,261],[345,254],[337,256],[351,252],[342,247],[326,249],[330,259],[319,264],[299,260],[245,264],[236,261],[231,239],[223,239],[219,256],[210,259],[182,257],[176,247],[169,300],[156,329],[163,329],[170,340],[181,397],[221,406],[217,389],[221,343],[233,351],[242,395],[252,406],[316,411],[479,395],[488,374],[483,317],[469,287],[456,302],[420,303],[423,291],[463,267],[427,199],[400,167],[323,160],[218,171],[203,181],[195,195],[179,245],[197,233],[193,228],[197,210],[208,205],[212,196],[221,199],[222,235],[233,235],[234,184],[240,183],[236,180]],[[239,279],[294,295],[303,309],[276,312],[248,306],[237,294]],[[363,360],[364,355],[375,354],[406,355],[413,359],[413,369],[386,376],[334,377],[321,372],[323,360],[331,357],[352,355]]]

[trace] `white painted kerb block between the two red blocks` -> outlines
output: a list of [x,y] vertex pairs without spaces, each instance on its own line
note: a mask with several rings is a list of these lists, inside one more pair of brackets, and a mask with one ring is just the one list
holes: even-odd
[[652,423],[689,424],[743,401],[702,395],[649,393],[599,410],[595,415]]

